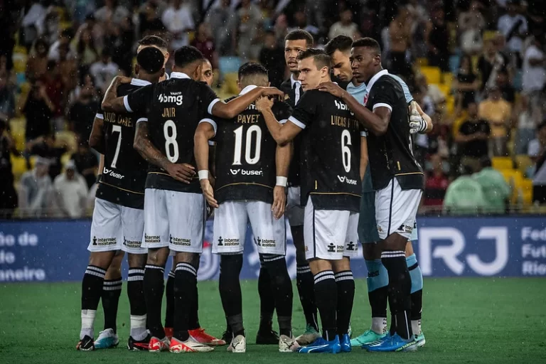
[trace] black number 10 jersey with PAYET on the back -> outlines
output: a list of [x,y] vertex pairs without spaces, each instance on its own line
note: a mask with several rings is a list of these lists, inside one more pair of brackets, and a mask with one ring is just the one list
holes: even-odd
[[[272,110],[279,121],[286,121],[291,112],[285,102],[275,102]],[[218,202],[272,203],[277,143],[269,134],[262,113],[251,104],[233,119],[217,119],[217,125],[215,197]]]

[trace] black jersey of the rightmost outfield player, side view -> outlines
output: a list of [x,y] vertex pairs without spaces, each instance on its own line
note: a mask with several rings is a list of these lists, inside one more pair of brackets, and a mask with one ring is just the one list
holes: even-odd
[[392,109],[387,132],[368,135],[373,188],[385,188],[396,177],[402,189],[421,189],[423,172],[413,156],[407,100],[400,82],[390,75],[372,78],[368,92],[366,106],[370,110],[374,105]]

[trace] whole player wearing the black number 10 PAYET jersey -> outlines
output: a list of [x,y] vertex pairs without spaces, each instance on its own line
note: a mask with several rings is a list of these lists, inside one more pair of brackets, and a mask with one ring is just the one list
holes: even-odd
[[[240,94],[268,86],[267,70],[258,63],[245,63],[238,72]],[[286,121],[291,108],[276,102],[274,114]],[[203,193],[215,210],[213,252],[220,255],[220,297],[232,331],[228,351],[245,353],[242,296],[239,274],[250,221],[262,266],[271,282],[279,321],[279,351],[291,352],[299,345],[291,333],[292,286],[286,255],[284,205],[291,145],[277,146],[255,105],[232,119],[201,120],[196,132],[196,161]],[[215,188],[208,176],[208,143],[216,142]]]

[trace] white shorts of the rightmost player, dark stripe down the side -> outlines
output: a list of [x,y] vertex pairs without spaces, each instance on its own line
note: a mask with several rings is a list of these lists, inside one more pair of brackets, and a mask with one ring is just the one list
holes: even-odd
[[381,239],[393,232],[410,239],[422,194],[421,190],[402,190],[396,178],[375,192],[375,220]]

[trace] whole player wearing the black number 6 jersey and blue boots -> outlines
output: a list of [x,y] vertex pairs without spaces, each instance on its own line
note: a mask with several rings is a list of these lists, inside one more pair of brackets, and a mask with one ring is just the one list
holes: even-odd
[[305,205],[306,259],[314,274],[314,294],[322,336],[300,353],[351,350],[348,328],[355,282],[349,258],[358,252],[358,208],[363,159],[360,124],[338,97],[314,90],[330,81],[331,60],[309,48],[298,56],[299,81],[305,91],[288,121],[279,124],[272,100],[256,102],[279,145],[301,133],[301,205]]

